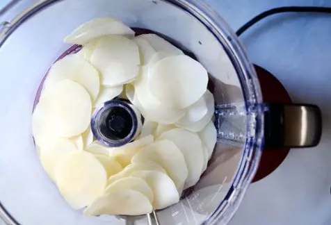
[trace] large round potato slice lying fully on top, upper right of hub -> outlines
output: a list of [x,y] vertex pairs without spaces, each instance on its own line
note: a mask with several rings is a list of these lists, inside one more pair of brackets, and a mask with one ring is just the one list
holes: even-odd
[[[189,56],[170,56],[150,67],[148,88],[172,108],[187,108],[207,90],[207,70]],[[140,100],[141,101],[141,100]]]

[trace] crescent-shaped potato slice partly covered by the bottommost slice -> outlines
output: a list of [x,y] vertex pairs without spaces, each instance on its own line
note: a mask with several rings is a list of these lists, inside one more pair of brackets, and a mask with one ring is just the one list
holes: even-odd
[[108,185],[104,193],[108,194],[119,190],[135,190],[145,195],[150,203],[154,201],[153,190],[142,178],[134,176],[121,178],[118,181],[111,183],[111,185]]

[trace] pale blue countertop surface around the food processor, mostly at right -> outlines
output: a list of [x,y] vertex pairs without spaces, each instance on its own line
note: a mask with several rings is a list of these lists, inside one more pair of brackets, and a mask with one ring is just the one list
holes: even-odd
[[[269,8],[331,7],[327,1],[207,0],[207,3],[236,30]],[[1,1],[0,7],[5,2]],[[291,150],[273,174],[252,184],[230,225],[331,224],[331,15],[275,15],[251,28],[241,40],[252,62],[277,76],[294,101],[321,107],[324,133],[318,147]]]

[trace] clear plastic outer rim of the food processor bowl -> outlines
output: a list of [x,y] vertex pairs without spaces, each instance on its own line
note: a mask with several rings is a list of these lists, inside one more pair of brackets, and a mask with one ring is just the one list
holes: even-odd
[[[29,1],[29,0],[28,0]],[[38,3],[31,2],[29,8],[24,9],[11,21],[3,21],[0,27],[0,47],[21,24],[27,19],[37,14],[40,10],[44,10],[51,4],[65,0],[42,0]],[[263,144],[264,135],[264,114],[262,113],[261,89],[257,80],[257,74],[252,64],[249,62],[245,53],[245,49],[239,42],[231,28],[227,26],[224,20],[209,6],[200,0],[159,0],[172,3],[173,5],[191,13],[193,17],[198,19],[211,33],[223,44],[225,51],[232,60],[234,68],[239,76],[243,96],[245,98],[245,108],[247,112],[247,137],[241,163],[236,171],[236,176],[232,181],[232,186],[227,193],[225,199],[220,202],[218,208],[209,216],[203,224],[227,224],[236,213],[243,196],[250,185],[252,178],[259,165],[261,158],[261,147]],[[6,12],[13,10],[19,0],[14,0],[0,10],[0,17],[3,17]],[[16,10],[17,11],[17,10]],[[9,22],[9,23],[8,23]],[[20,225],[15,218],[10,215],[8,210],[1,204],[0,200],[0,218],[6,224]]]

